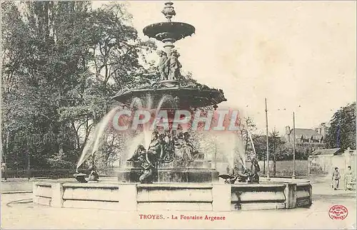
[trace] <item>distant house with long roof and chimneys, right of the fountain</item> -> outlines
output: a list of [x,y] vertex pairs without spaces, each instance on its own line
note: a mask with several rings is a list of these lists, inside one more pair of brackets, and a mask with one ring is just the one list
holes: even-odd
[[322,123],[319,127],[315,130],[313,129],[302,129],[302,128],[295,128],[290,129],[289,126],[286,126],[286,133],[283,135],[283,139],[286,142],[293,142],[295,132],[296,143],[306,143],[306,144],[322,144],[325,139],[326,134],[326,127],[325,123]]

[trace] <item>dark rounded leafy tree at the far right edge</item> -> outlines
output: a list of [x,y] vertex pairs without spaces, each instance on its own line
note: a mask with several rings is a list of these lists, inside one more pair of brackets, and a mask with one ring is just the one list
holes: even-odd
[[340,108],[331,118],[326,134],[329,148],[356,150],[356,102]]

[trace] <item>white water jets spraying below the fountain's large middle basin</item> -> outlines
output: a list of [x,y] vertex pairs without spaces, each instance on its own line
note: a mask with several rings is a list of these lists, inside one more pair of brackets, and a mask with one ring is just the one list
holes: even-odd
[[[144,102],[141,98],[133,98],[131,101],[130,109],[131,110],[152,110],[153,109],[153,98],[150,94],[146,95],[146,101],[145,101],[145,108],[144,108]],[[155,115],[159,114],[161,108],[163,107],[164,103],[169,102],[171,105],[175,105],[175,100],[172,97],[172,95],[164,95],[160,100],[159,103],[157,104],[155,108]],[[102,145],[103,142],[103,137],[104,137],[104,132],[106,130],[106,127],[108,126],[109,122],[111,121],[112,117],[114,117],[116,111],[118,109],[121,109],[120,107],[112,109],[106,116],[99,122],[98,125],[96,125],[94,129],[94,135],[89,139],[87,142],[86,146],[84,147],[84,150],[81,154],[81,157],[79,159],[79,162],[77,164],[77,169],[83,164],[90,156],[94,155],[96,151],[98,151],[99,147]],[[120,164],[119,165],[125,165],[126,159],[131,155],[132,153],[135,152],[136,147],[138,145],[144,145],[146,150],[149,148],[149,145],[151,143],[151,125],[150,122],[146,122],[143,125],[143,132],[139,134],[131,134],[126,137],[125,142],[125,150],[124,152],[121,152],[121,157],[119,157]],[[121,135],[121,134],[119,134]],[[198,140],[201,140],[205,142],[208,139],[212,139],[212,141],[207,141],[208,143],[206,144],[206,150],[205,152],[206,155],[206,160],[209,158],[213,160],[213,155],[214,155],[214,150],[218,152],[219,155],[224,155],[223,158],[226,159],[228,162],[229,167],[233,168],[234,167],[234,159],[235,156],[238,156],[238,162],[243,165],[244,168],[246,168],[246,155],[244,151],[244,144],[243,140],[241,140],[241,137],[239,135],[236,135],[236,132],[221,132],[220,134],[213,134],[212,132],[204,132],[202,133],[203,136],[198,137]],[[248,133],[249,138],[251,140],[251,143],[253,145],[253,140],[251,139],[250,133]],[[210,137],[215,137],[215,138],[210,138]],[[195,138],[196,139],[196,138]],[[215,147],[213,147],[215,146]],[[202,146],[203,149],[205,148]],[[254,152],[255,148],[253,147]]]

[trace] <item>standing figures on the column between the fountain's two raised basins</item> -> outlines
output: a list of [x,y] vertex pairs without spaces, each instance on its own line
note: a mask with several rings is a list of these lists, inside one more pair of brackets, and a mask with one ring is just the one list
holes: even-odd
[[180,75],[181,63],[178,61],[180,54],[176,50],[171,50],[168,54],[165,51],[157,51],[159,55],[158,70],[161,80],[177,80]]

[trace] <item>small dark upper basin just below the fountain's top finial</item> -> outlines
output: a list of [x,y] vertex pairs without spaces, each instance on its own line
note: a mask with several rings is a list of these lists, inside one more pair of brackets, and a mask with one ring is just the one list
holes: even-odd
[[195,28],[188,23],[166,21],[154,23],[146,26],[143,32],[149,38],[156,38],[159,41],[164,39],[174,39],[178,41],[186,36],[191,36],[195,33]]

